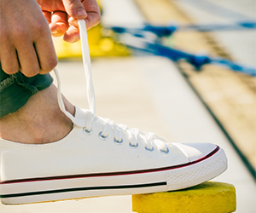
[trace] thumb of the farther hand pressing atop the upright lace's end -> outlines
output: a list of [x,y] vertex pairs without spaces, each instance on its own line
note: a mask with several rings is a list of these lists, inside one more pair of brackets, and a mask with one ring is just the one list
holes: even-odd
[[77,20],[84,20],[87,17],[83,4],[80,0],[62,0],[67,14]]

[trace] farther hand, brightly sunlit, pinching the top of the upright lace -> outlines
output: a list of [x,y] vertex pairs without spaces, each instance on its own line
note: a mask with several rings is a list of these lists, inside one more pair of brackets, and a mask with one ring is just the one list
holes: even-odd
[[[37,0],[49,22],[54,37],[64,35],[69,43],[79,40],[77,20],[85,20],[87,29],[96,26],[101,20],[96,0]],[[86,11],[86,12],[85,12]]]

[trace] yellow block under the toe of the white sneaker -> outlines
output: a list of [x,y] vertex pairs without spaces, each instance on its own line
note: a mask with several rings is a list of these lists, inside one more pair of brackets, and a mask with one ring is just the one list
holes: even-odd
[[180,191],[132,195],[138,213],[230,213],[236,210],[236,188],[207,181]]

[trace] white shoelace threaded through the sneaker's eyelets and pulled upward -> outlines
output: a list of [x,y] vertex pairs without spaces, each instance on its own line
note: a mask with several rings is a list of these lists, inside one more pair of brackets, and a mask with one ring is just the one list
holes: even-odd
[[[84,20],[79,20],[79,30],[80,30],[80,39],[82,44],[82,55],[83,55],[83,62],[84,62],[84,72],[85,72],[85,78],[86,78],[86,89],[87,89],[87,98],[90,110],[86,111],[86,119],[81,118],[75,118],[72,114],[67,112],[64,106],[64,102],[62,100],[61,95],[61,80],[59,76],[59,72],[57,69],[54,69],[56,80],[57,80],[57,88],[58,88],[58,103],[59,107],[61,108],[61,111],[64,112],[68,118],[70,118],[73,121],[73,124],[78,125],[79,127],[83,127],[84,130],[88,133],[90,133],[92,122],[94,120],[99,121],[104,125],[104,128],[102,132],[99,134],[99,136],[102,139],[106,139],[108,137],[108,134],[113,131],[114,135],[114,141],[116,143],[122,143],[122,133],[125,133],[128,135],[130,146],[131,147],[137,147],[138,146],[138,137],[143,139],[145,148],[148,151],[153,151],[154,147],[157,147],[161,153],[168,153],[169,150],[166,146],[166,143],[168,141],[160,137],[159,135],[156,135],[154,133],[146,133],[138,129],[129,129],[125,124],[115,124],[110,119],[104,119],[96,117],[96,101],[95,101],[95,93],[94,93],[94,87],[92,83],[91,78],[91,66],[90,66],[90,52],[89,52],[89,44],[88,44],[88,37],[87,37],[87,31],[85,26]],[[96,119],[95,119],[96,118]]]

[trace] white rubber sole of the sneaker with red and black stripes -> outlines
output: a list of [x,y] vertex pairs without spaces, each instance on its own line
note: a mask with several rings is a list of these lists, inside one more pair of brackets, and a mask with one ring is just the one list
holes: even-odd
[[166,168],[2,181],[0,199],[3,204],[31,204],[110,195],[166,192],[209,181],[226,169],[225,153],[217,147],[204,158]]

